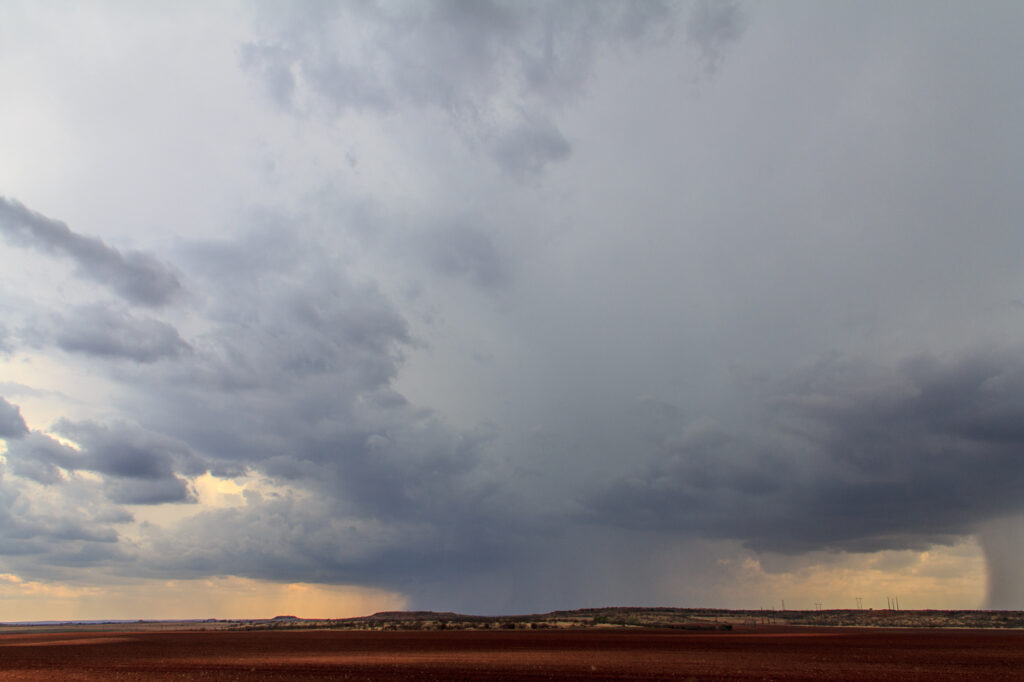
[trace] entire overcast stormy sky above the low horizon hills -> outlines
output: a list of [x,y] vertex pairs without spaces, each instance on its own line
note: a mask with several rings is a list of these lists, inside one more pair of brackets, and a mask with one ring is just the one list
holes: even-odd
[[3,2],[0,620],[1024,608],[1022,23]]

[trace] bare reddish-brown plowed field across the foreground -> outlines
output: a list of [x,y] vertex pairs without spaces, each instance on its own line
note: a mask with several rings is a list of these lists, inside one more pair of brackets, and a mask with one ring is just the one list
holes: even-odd
[[7,680],[1024,680],[1024,631],[0,635]]

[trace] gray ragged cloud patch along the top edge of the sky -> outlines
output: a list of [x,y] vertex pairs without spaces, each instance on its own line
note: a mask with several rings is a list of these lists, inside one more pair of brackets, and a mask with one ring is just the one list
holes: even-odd
[[[524,177],[569,157],[549,110],[584,87],[595,53],[663,39],[677,9],[657,0],[293,4],[272,8],[272,35],[244,46],[242,61],[290,108],[302,106],[297,76],[339,115],[437,108],[471,145]],[[738,36],[738,10],[695,11],[691,33],[718,63]],[[356,24],[369,30],[346,33]]]

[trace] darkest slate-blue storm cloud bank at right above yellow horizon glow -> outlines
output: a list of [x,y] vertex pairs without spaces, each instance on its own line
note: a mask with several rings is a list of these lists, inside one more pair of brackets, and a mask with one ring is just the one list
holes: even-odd
[[[926,547],[1024,510],[1024,355],[824,361],[752,424],[662,433],[653,463],[592,496],[593,518],[759,550]],[[685,424],[685,420],[681,420]]]

